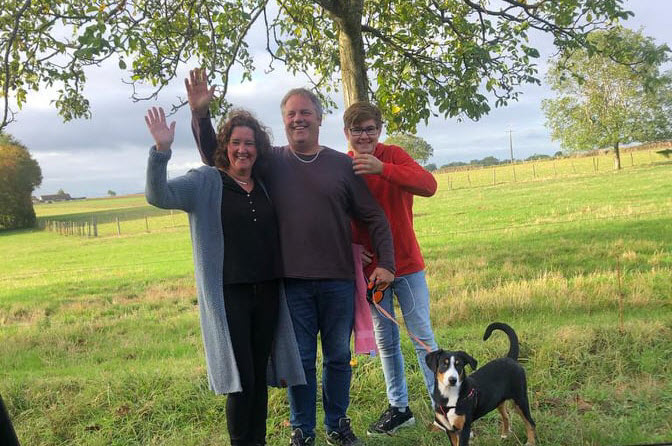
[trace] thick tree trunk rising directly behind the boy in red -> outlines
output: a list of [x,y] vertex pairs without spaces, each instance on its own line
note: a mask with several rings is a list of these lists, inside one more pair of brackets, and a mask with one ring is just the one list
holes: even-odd
[[363,0],[339,2],[335,15],[338,23],[338,48],[345,106],[369,100],[369,80],[366,75],[364,41],[362,39]]

